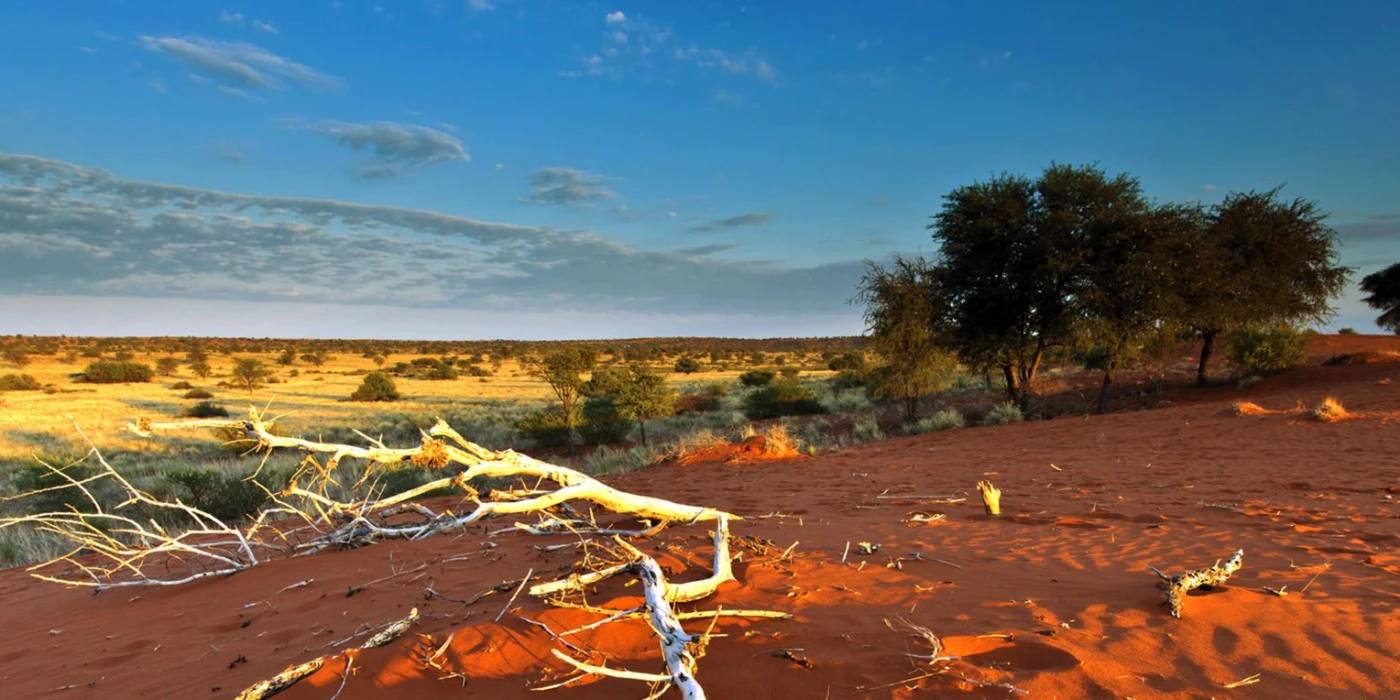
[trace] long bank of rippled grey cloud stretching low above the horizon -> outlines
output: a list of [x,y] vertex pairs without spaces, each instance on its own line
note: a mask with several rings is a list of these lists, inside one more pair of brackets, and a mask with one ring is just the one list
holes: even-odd
[[0,154],[0,295],[850,314],[860,260],[794,269],[589,231],[132,181]]

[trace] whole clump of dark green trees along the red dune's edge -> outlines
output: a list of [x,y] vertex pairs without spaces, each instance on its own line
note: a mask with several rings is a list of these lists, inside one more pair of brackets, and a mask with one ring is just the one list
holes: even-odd
[[[1201,343],[1204,384],[1226,333],[1330,316],[1350,270],[1324,218],[1278,189],[1155,203],[1092,165],[958,188],[928,225],[937,256],[867,262],[857,300],[885,358],[878,386],[913,419],[956,360],[1000,374],[1025,409],[1047,353],[1093,349],[1102,412],[1116,371],[1163,337]],[[1392,284],[1376,290],[1400,300],[1400,272]]]

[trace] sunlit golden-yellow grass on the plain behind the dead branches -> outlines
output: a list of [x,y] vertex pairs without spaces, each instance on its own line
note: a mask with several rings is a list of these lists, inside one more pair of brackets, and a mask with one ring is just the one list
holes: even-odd
[[[168,354],[137,353],[132,361],[155,365],[157,358]],[[232,386],[220,386],[230,381],[234,361],[242,357],[256,357],[276,377],[276,384],[246,392]],[[277,363],[280,353],[238,353],[235,356],[210,354],[213,368],[207,378],[196,377],[182,363],[174,375],[157,375],[146,384],[81,384],[71,375],[83,371],[91,358],[67,363],[56,356],[31,356],[31,364],[24,370],[0,367],[0,374],[22,372],[32,375],[49,391],[17,391],[0,393],[0,459],[22,459],[38,452],[55,449],[76,449],[81,440],[74,423],[101,449],[153,451],[160,452],[169,445],[161,441],[133,438],[122,427],[139,419],[164,420],[176,417],[197,399],[185,399],[186,389],[172,389],[176,382],[189,382],[214,395],[214,403],[223,405],[232,414],[239,414],[248,406],[267,409],[273,416],[286,416],[288,424],[304,430],[332,427],[365,427],[385,413],[433,416],[442,412],[479,409],[482,412],[503,412],[542,406],[553,400],[549,386],[531,377],[518,360],[505,360],[491,377],[468,377],[456,379],[413,379],[395,378],[402,400],[385,403],[350,402],[349,396],[360,386],[364,375],[378,370],[371,358],[353,353],[332,354],[323,365],[314,367],[297,361],[291,367]],[[431,357],[431,356],[419,356]],[[413,356],[393,356],[393,361],[412,361]],[[606,358],[605,358],[606,360]],[[820,378],[833,372],[811,370],[820,364],[818,356],[791,357],[791,364],[802,361],[809,370],[804,377]],[[655,371],[671,370],[671,361],[655,364]],[[736,382],[739,374],[749,367],[735,367],[727,371],[699,371],[693,374],[668,372],[666,379],[678,389],[707,382]]]

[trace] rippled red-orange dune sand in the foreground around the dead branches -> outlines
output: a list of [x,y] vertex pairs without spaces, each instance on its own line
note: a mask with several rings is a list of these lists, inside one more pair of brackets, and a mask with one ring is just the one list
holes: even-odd
[[[797,615],[715,627],[727,636],[710,644],[699,672],[714,699],[1007,697],[946,675],[897,683],[927,669],[906,657],[927,648],[885,624],[896,617],[942,636],[945,654],[962,657],[958,675],[1008,682],[1030,697],[1396,697],[1396,423],[1327,424],[1231,410],[1236,399],[1288,409],[1337,396],[1348,410],[1393,414],[1400,386],[1378,384],[1393,374],[1400,370],[1380,364],[1306,367],[1245,392],[1187,395],[1159,410],[955,430],[752,466],[662,466],[609,482],[748,515],[734,533],[773,543],[766,556],[745,552],[738,582],[680,606]],[[981,512],[979,479],[1002,489],[1001,518]],[[969,500],[930,505],[917,498],[924,494]],[[916,511],[948,517],[903,522]],[[791,517],[760,518],[771,512]],[[549,697],[529,686],[546,676],[542,669],[561,668],[549,655],[559,644],[514,615],[493,623],[508,594],[472,606],[424,598],[431,587],[466,599],[526,570],[553,577],[575,557],[573,550],[535,549],[568,542],[564,536],[500,535],[486,549],[483,529],[97,596],[3,571],[0,694],[232,697],[288,664],[326,652],[328,643],[361,624],[386,623],[419,606],[423,620],[413,633],[357,657],[340,699]],[[657,540],[675,547],[641,546],[673,578],[704,575],[706,528],[678,526]],[[855,554],[861,540],[882,549]],[[791,564],[776,563],[794,542]],[[841,564],[847,542],[851,553]],[[1147,566],[1208,566],[1236,547],[1245,549],[1245,568],[1231,585],[1193,595],[1183,619],[1169,617]],[[916,550],[924,560],[885,566]],[[442,561],[458,554],[469,559]],[[406,573],[346,596],[349,588],[395,571]],[[314,582],[276,592],[307,578]],[[624,584],[606,582],[589,601],[637,603],[637,588]],[[1266,594],[1266,585],[1287,585],[1289,595]],[[554,631],[599,619],[526,598],[512,612]],[[703,630],[704,623],[687,629]],[[430,634],[434,645],[455,634],[445,659],[469,678],[465,686],[440,680],[414,661],[428,645],[419,634]],[[641,622],[610,624],[574,643],[606,650],[615,666],[661,669]],[[811,668],[771,654],[781,648],[802,650],[798,655]],[[332,697],[342,671],[343,664],[332,664],[280,697]],[[1257,685],[1222,687],[1254,673]],[[550,693],[643,697],[645,687],[609,679]]]

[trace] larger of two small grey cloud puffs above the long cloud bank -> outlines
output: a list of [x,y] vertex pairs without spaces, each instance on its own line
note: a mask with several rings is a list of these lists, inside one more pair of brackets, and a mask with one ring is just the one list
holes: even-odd
[[335,122],[315,125],[286,123],[294,129],[319,133],[342,146],[367,154],[357,172],[364,178],[392,178],[407,169],[440,162],[470,161],[466,146],[451,133],[428,126],[398,122]]

